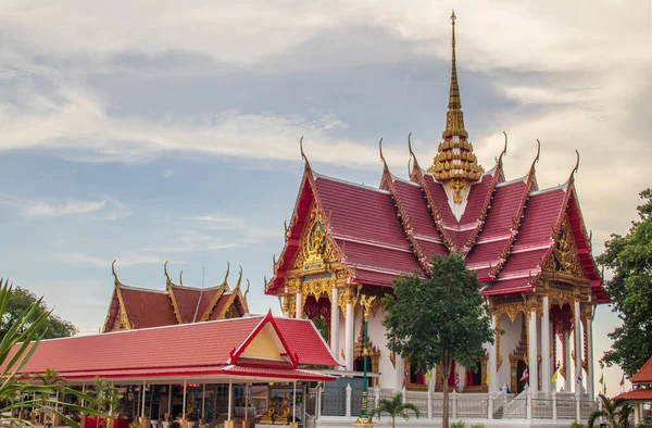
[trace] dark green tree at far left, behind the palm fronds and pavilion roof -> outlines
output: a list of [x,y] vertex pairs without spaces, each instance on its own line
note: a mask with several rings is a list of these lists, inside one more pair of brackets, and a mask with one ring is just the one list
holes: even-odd
[[18,317],[33,306],[32,318],[27,325],[34,323],[42,314],[48,314],[48,317],[39,327],[41,330],[38,331],[43,339],[64,338],[77,333],[77,328],[72,323],[52,314],[42,299],[38,299],[36,294],[24,288],[16,287],[11,289],[7,309],[2,318],[0,318],[0,340],[4,338],[4,335],[17,322]]

